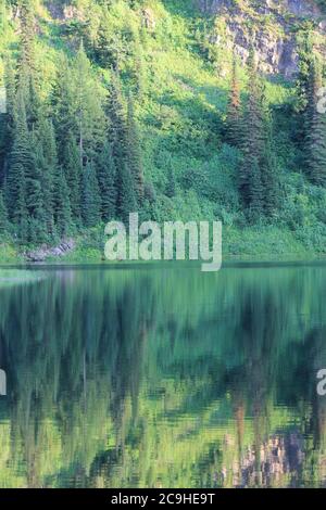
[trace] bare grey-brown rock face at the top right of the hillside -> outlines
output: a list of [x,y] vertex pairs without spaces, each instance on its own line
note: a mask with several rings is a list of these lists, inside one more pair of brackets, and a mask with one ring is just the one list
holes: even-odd
[[[244,63],[253,46],[259,67],[266,74],[291,78],[298,72],[297,35],[293,27],[311,18],[326,37],[326,20],[309,0],[199,0],[203,12],[223,17],[228,44]],[[220,43],[218,37],[211,42]],[[324,51],[323,48],[321,48]]]

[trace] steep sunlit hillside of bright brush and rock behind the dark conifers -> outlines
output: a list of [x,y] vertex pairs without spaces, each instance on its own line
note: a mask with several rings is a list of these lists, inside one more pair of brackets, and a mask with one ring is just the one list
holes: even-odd
[[[10,61],[15,67],[21,59],[24,3],[24,0],[0,0],[2,85],[5,63]],[[304,109],[300,106],[296,81],[298,74],[302,74],[300,55],[306,50],[306,40],[313,41],[315,54],[324,52],[323,2],[36,0],[27,3],[33,8],[33,74],[42,115],[52,118],[57,129],[58,157],[63,174],[61,148],[64,140],[60,138],[55,99],[58,75],[62,62],[72,68],[78,66],[76,54],[83,41],[89,69],[88,64],[84,64],[93,90],[87,99],[91,111],[89,123],[95,122],[93,109],[106,115],[113,75],[117,74],[121,81],[123,109],[127,109],[127,98],[133,94],[145,180],[140,206],[143,217],[160,221],[220,218],[225,226],[227,255],[266,257],[268,254],[324,252],[326,193],[324,187],[316,186],[305,173],[303,117],[300,117]],[[254,219],[248,216],[239,190],[243,151],[227,137],[233,55],[236,55],[246,110],[250,82],[244,64],[251,49],[266,90],[273,153],[279,176],[279,205],[272,215],[262,212]],[[72,90],[77,90],[76,85]],[[91,95],[99,101],[96,105],[91,104]],[[5,204],[10,167],[8,132],[4,135],[7,116],[1,115],[0,164],[4,207],[10,208],[10,204]],[[111,120],[109,118],[109,125]],[[106,132],[104,117],[103,123],[103,132]],[[91,152],[97,149],[91,145],[102,143],[101,136],[96,130],[91,132],[90,138],[99,138],[93,143],[89,140],[82,167],[97,158]],[[74,136],[77,141],[77,135]],[[87,181],[85,171],[80,169],[82,187]],[[32,211],[33,204],[28,207]],[[13,213],[8,211],[8,214],[10,227],[2,228],[0,235],[11,242],[20,238],[20,232]],[[30,214],[28,221],[38,226],[35,213]],[[88,246],[100,243],[101,233],[88,238],[90,231],[97,231],[95,222],[84,218],[82,225],[76,218],[73,215],[68,227],[64,226],[62,231],[54,226],[53,235],[42,233],[33,238],[28,233],[14,244],[58,243],[62,235],[86,237],[84,243]],[[54,214],[54,222],[58,221]]]

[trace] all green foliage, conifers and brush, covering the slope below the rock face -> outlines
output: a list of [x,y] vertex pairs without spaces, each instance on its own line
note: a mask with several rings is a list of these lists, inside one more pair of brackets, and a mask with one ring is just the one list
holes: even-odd
[[[42,1],[5,3],[0,187],[20,242],[57,242],[138,211],[238,229],[274,221],[296,235],[311,225],[321,247],[313,190],[325,186],[325,127],[311,24],[296,28],[293,84],[230,65],[225,21],[188,2],[83,0],[70,18],[59,1],[47,15]],[[300,173],[309,180],[297,190]]]

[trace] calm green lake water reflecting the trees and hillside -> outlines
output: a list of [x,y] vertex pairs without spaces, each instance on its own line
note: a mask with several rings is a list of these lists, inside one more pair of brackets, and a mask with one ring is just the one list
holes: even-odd
[[326,486],[326,266],[3,275],[0,487]]

